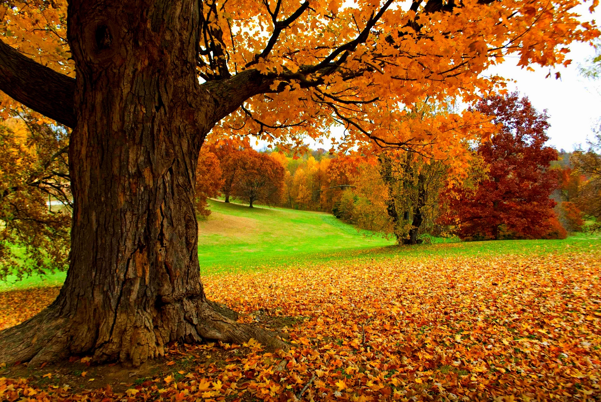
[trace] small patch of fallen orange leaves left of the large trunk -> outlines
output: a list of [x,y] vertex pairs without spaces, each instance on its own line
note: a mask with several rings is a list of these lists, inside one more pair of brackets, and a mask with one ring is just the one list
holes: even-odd
[[59,290],[49,287],[0,293],[0,330],[33,317],[56,299]]

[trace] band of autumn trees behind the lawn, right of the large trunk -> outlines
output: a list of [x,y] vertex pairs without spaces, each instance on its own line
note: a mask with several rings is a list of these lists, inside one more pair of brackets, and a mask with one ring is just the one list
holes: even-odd
[[588,148],[558,153],[545,145],[548,116],[526,97],[491,97],[476,108],[502,128],[489,142],[463,144],[471,157],[462,169],[414,151],[296,154],[211,144],[202,157],[212,162],[198,171],[198,186],[207,187],[198,187],[198,211],[207,216],[206,197],[222,194],[250,206],[331,212],[401,244],[454,235],[564,239],[599,228],[599,136]]

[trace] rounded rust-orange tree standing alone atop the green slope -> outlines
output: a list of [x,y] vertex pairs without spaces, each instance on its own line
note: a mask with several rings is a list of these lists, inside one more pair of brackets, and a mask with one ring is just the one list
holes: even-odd
[[237,166],[233,196],[247,199],[250,208],[256,201],[279,203],[284,189],[284,166],[278,160],[249,148],[237,154]]

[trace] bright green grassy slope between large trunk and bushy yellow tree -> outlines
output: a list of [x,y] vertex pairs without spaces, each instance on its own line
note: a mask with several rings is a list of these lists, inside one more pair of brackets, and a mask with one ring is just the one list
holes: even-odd
[[329,213],[283,208],[249,208],[209,200],[211,215],[198,222],[201,272],[285,264],[349,249],[393,244],[379,236],[365,237]]

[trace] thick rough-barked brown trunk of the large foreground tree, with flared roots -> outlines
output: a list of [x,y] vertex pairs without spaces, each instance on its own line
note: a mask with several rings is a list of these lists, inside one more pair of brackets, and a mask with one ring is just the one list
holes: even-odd
[[284,346],[216,312],[200,281],[194,180],[213,122],[195,75],[198,4],[69,2],[70,267],[52,305],[0,333],[0,361],[90,353],[138,365],[202,338]]

